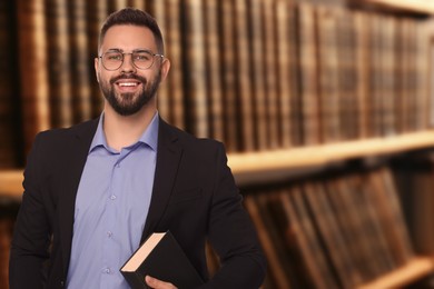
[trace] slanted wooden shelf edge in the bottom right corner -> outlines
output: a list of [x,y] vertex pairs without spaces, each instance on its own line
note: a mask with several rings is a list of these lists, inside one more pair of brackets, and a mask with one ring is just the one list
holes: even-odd
[[358,289],[383,289],[383,288],[402,288],[423,277],[433,273],[434,261],[428,257],[413,259],[407,265],[383,275],[369,283],[361,286]]

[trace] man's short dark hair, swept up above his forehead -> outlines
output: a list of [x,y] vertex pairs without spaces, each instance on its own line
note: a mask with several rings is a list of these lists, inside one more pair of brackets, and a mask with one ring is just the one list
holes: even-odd
[[107,30],[109,30],[109,28],[114,26],[122,26],[122,24],[149,28],[149,30],[154,34],[157,44],[157,49],[158,49],[157,53],[164,54],[165,44],[162,40],[162,33],[160,28],[157,24],[157,21],[151,14],[135,8],[124,8],[108,16],[99,33],[98,50],[101,47]]

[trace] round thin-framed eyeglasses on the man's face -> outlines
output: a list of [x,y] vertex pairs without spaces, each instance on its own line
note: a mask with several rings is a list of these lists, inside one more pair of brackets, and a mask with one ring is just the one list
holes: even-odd
[[118,50],[106,51],[102,56],[98,57],[102,61],[102,66],[107,70],[118,70],[122,63],[125,56],[130,54],[132,64],[137,69],[149,69],[154,64],[156,57],[165,58],[162,54],[156,54],[148,50],[137,50],[132,52],[121,52]]

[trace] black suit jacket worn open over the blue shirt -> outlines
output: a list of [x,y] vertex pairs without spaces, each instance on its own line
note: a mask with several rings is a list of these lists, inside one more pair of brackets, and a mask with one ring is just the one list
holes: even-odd
[[[98,120],[37,136],[10,255],[10,288],[62,288],[75,201]],[[266,261],[221,143],[159,123],[154,190],[141,240],[170,230],[205,280],[205,240],[223,269],[204,288],[258,288]]]

